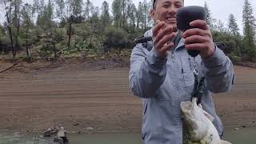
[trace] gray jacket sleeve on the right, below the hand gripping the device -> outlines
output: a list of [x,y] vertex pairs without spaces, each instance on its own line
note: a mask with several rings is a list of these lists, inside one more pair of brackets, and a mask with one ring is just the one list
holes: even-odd
[[206,76],[206,86],[212,93],[222,93],[234,84],[234,68],[222,50],[216,46],[210,58],[202,58],[202,72]]

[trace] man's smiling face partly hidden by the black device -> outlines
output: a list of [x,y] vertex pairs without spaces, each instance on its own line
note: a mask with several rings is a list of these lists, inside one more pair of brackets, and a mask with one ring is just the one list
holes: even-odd
[[153,10],[150,10],[154,21],[166,22],[166,25],[177,29],[176,13],[184,6],[183,0],[157,0]]

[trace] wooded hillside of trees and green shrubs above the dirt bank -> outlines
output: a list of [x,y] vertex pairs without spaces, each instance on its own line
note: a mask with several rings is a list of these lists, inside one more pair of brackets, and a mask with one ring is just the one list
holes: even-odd
[[[3,0],[0,52],[11,52],[13,58],[22,54],[28,59],[105,54],[111,49],[120,54],[122,49],[131,49],[134,38],[154,25],[149,14],[152,3],[144,0],[135,6],[132,0],[114,0],[111,6],[104,1],[98,7],[90,0],[34,0],[32,4]],[[214,42],[224,42],[225,53],[236,62],[256,61],[256,25],[250,2],[245,0],[243,6],[243,34],[239,34],[233,14],[224,26],[212,18],[207,3],[205,8]]]

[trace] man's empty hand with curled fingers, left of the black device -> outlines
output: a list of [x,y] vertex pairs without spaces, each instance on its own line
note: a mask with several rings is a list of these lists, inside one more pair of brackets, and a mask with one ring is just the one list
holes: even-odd
[[174,37],[172,26],[166,26],[165,22],[156,22],[153,29],[154,50],[161,58],[166,58],[167,51],[174,47],[174,42],[170,42]]

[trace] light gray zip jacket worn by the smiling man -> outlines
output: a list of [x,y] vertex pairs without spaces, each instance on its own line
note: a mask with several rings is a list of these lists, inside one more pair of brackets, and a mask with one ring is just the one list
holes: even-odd
[[[151,30],[144,35],[152,35]],[[179,104],[190,101],[194,86],[194,58],[187,54],[183,41],[181,39],[174,53],[168,52],[166,58],[159,58],[154,48],[147,50],[142,43],[132,51],[130,89],[142,98],[142,141],[145,144],[182,144]],[[198,56],[195,59],[199,75],[206,77],[202,107],[214,116],[214,126],[222,135],[222,122],[215,112],[211,93],[230,90],[234,82],[233,64],[218,47],[210,58]]]

